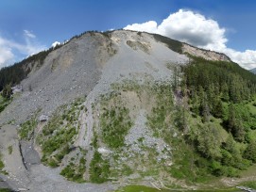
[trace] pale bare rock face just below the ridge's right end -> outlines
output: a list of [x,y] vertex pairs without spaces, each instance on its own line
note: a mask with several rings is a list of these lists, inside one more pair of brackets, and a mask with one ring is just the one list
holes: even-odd
[[203,50],[186,43],[183,43],[182,51],[183,53],[188,53],[192,56],[201,56],[207,60],[230,61],[230,57],[226,56],[225,54]]

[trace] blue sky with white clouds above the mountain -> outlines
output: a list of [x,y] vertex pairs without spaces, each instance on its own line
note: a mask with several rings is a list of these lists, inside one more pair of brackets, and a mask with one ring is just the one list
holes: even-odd
[[[1,0],[0,67],[49,48],[54,41],[69,40],[87,30],[105,31],[154,21],[161,28],[154,32],[225,52],[249,69],[256,67],[255,8],[255,0]],[[204,30],[205,24],[212,27],[210,23],[214,21],[217,26],[214,25],[213,32],[219,34],[209,32],[204,35],[214,36],[211,40],[218,41],[219,38],[222,44],[209,45],[207,40],[205,44],[196,44],[196,38],[202,37],[200,32],[198,37],[182,31],[184,37],[173,31],[166,32],[166,27],[174,30],[169,25],[175,24],[176,19],[186,24],[188,20],[182,22],[186,14],[195,16],[192,21],[195,26],[202,22],[196,32]],[[162,24],[164,19],[169,23]],[[175,28],[176,32],[181,34],[180,30],[186,28],[182,27]],[[139,30],[134,25],[133,29]],[[141,30],[152,32],[151,28]],[[193,31],[195,28],[190,26],[189,32]]]

